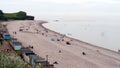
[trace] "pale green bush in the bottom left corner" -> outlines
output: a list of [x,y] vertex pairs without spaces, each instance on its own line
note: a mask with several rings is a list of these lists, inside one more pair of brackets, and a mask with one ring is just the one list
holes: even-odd
[[27,64],[19,56],[0,52],[0,68],[27,68]]

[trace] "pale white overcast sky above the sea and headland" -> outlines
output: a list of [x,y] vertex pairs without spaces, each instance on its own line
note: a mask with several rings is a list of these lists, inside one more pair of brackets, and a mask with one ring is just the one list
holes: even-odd
[[29,15],[120,16],[120,0],[0,0],[4,12],[26,11]]

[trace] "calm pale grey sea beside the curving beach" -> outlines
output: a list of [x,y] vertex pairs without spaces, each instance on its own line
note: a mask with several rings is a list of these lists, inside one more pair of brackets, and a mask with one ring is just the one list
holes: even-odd
[[50,17],[46,28],[114,51],[120,49],[119,16]]

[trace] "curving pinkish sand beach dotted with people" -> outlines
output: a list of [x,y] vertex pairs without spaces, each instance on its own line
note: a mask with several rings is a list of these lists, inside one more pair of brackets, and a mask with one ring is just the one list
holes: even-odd
[[[55,68],[120,68],[120,53],[56,33],[45,21],[9,21],[7,29],[23,47],[54,64]],[[63,28],[63,27],[62,27]],[[13,32],[16,32],[13,33]]]

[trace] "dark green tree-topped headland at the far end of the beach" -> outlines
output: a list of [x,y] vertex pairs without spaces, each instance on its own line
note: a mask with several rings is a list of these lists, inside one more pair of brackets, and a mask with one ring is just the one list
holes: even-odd
[[8,21],[8,20],[34,20],[34,16],[27,15],[24,11],[19,11],[16,13],[4,13],[0,10],[0,20]]

